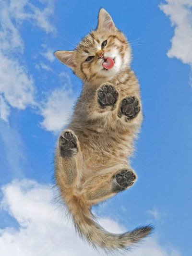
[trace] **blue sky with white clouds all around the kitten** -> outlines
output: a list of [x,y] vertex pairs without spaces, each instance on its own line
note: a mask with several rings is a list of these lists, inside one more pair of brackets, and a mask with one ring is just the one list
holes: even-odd
[[49,184],[58,134],[82,85],[53,52],[74,49],[100,7],[132,45],[144,124],[132,158],[137,183],[95,213],[113,232],[156,224],[127,255],[191,255],[192,0],[1,0],[2,256],[96,255],[61,218]]

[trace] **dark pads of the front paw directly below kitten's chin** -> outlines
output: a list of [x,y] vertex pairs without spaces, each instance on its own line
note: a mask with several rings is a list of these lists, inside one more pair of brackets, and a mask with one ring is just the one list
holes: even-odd
[[106,84],[97,91],[97,98],[102,109],[107,106],[114,107],[118,99],[118,92],[112,85]]

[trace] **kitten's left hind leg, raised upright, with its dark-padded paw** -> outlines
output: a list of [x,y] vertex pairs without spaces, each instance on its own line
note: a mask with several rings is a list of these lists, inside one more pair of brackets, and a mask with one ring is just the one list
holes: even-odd
[[70,188],[79,182],[78,162],[80,147],[76,135],[71,130],[60,134],[55,158],[55,178],[60,187]]

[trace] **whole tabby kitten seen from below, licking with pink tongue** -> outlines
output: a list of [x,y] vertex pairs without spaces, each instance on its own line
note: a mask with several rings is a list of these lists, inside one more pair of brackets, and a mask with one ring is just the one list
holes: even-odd
[[58,141],[56,184],[81,236],[94,246],[126,248],[153,228],[112,234],[94,221],[90,209],[137,180],[127,158],[143,116],[130,45],[101,9],[96,30],[73,51],[56,51],[55,56],[84,82],[72,121]]

